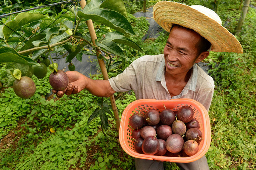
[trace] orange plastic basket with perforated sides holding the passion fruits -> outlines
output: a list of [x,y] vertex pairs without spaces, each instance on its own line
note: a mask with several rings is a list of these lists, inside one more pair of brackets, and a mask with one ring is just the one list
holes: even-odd
[[[172,109],[173,111],[177,111],[180,107],[184,105],[191,105],[194,111],[194,118],[199,121],[200,130],[202,131],[203,140],[199,144],[198,152],[190,157],[167,157],[167,156],[156,156],[156,155],[146,155],[139,154],[134,150],[134,142],[132,139],[132,131],[133,129],[129,125],[130,117],[139,113],[142,115],[146,114],[146,110],[156,109],[161,113],[164,108]],[[140,99],[133,101],[130,103],[123,112],[120,129],[119,129],[119,141],[123,150],[135,158],[140,159],[149,159],[149,160],[158,160],[158,161],[167,161],[167,162],[193,162],[197,159],[203,157],[203,155],[207,152],[211,143],[211,127],[210,127],[210,119],[206,109],[199,102],[189,99],[189,98],[179,98],[172,100],[155,100],[155,99]]]

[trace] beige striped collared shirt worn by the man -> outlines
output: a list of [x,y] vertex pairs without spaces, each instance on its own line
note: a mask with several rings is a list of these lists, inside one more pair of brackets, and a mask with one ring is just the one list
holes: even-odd
[[136,99],[170,100],[191,98],[201,103],[208,111],[214,92],[214,81],[196,64],[180,94],[171,97],[165,81],[165,59],[163,54],[145,55],[133,61],[123,73],[110,78],[110,86],[116,92],[133,90]]

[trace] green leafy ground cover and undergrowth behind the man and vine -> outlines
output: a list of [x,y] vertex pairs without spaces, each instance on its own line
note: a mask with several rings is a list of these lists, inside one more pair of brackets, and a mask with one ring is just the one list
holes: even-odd
[[[57,1],[1,1],[0,14],[31,6]],[[127,19],[137,34],[132,38],[144,53],[123,46],[125,62],[109,68],[109,76],[122,72],[136,58],[145,54],[162,53],[167,38],[165,32],[158,38],[142,37],[148,30],[146,18],[135,18],[132,13],[141,11],[143,1],[124,1]],[[147,1],[151,7],[156,1]],[[241,13],[241,1],[177,0],[188,5],[201,4],[217,11],[223,25],[233,34]],[[209,111],[211,121],[211,146],[206,153],[210,169],[255,169],[255,2],[251,1],[238,40],[243,54],[214,53],[205,60],[211,67],[209,73],[215,80],[215,93]],[[253,6],[254,5],[254,6]],[[65,10],[64,5],[38,9],[55,17]],[[1,22],[14,16],[1,18]],[[98,37],[108,32],[100,27]],[[112,62],[121,61],[114,57]],[[5,63],[0,63],[0,167],[1,169],[135,169],[134,159],[126,154],[118,143],[118,133],[111,113],[108,130],[102,130],[97,117],[90,124],[88,119],[100,103],[110,105],[108,98],[99,98],[86,90],[61,99],[50,95],[48,82],[50,71],[44,79],[32,77],[37,91],[31,99],[21,99],[11,87],[7,87]],[[101,74],[90,75],[101,79]],[[133,92],[115,94],[121,118],[124,108],[135,100]],[[110,107],[111,108],[111,107]],[[166,169],[178,169],[174,163],[164,163]]]

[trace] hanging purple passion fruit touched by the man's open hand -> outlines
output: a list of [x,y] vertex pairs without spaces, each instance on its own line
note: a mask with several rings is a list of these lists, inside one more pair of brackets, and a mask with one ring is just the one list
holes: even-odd
[[49,76],[50,85],[54,90],[64,90],[68,86],[68,76],[62,70],[54,71]]

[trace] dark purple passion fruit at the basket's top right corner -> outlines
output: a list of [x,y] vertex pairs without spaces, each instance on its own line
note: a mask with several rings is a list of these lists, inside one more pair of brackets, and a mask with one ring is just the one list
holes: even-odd
[[182,106],[180,109],[178,109],[177,118],[184,123],[188,123],[189,121],[191,121],[193,119],[193,116],[194,111],[189,106]]

